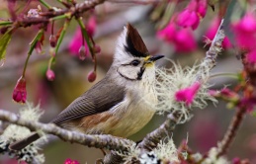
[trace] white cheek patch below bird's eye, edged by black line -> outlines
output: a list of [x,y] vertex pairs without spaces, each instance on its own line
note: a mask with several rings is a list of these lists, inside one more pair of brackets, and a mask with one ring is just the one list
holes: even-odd
[[137,80],[137,73],[140,71],[140,67],[133,67],[131,65],[120,66],[118,72],[121,76],[128,80]]

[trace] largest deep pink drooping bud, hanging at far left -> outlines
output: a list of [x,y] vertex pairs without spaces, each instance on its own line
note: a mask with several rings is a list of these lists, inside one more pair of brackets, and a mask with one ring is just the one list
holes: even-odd
[[17,103],[25,103],[27,100],[26,79],[20,77],[13,91],[13,100]]

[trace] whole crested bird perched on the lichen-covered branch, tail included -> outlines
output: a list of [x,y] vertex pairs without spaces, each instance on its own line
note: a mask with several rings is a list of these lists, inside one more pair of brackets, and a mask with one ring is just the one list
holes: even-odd
[[[106,77],[51,123],[86,134],[128,137],[137,132],[155,113],[155,61],[162,57],[151,56],[137,31],[128,24],[119,37]],[[10,149],[20,150],[39,138],[40,134],[34,132],[11,144]]]

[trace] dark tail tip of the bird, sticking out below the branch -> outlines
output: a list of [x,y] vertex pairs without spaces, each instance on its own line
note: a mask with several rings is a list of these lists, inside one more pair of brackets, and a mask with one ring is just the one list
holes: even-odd
[[22,140],[18,140],[12,144],[10,144],[9,148],[11,150],[21,150],[24,147],[28,146],[29,144],[31,144],[32,142],[38,140],[40,138],[40,134],[38,132],[33,132],[31,135],[29,135],[28,137],[22,139]]

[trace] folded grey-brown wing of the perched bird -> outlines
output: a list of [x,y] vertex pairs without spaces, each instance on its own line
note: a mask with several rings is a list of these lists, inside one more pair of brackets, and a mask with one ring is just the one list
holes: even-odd
[[60,124],[70,120],[105,112],[123,101],[125,90],[107,77],[75,99],[51,123]]

